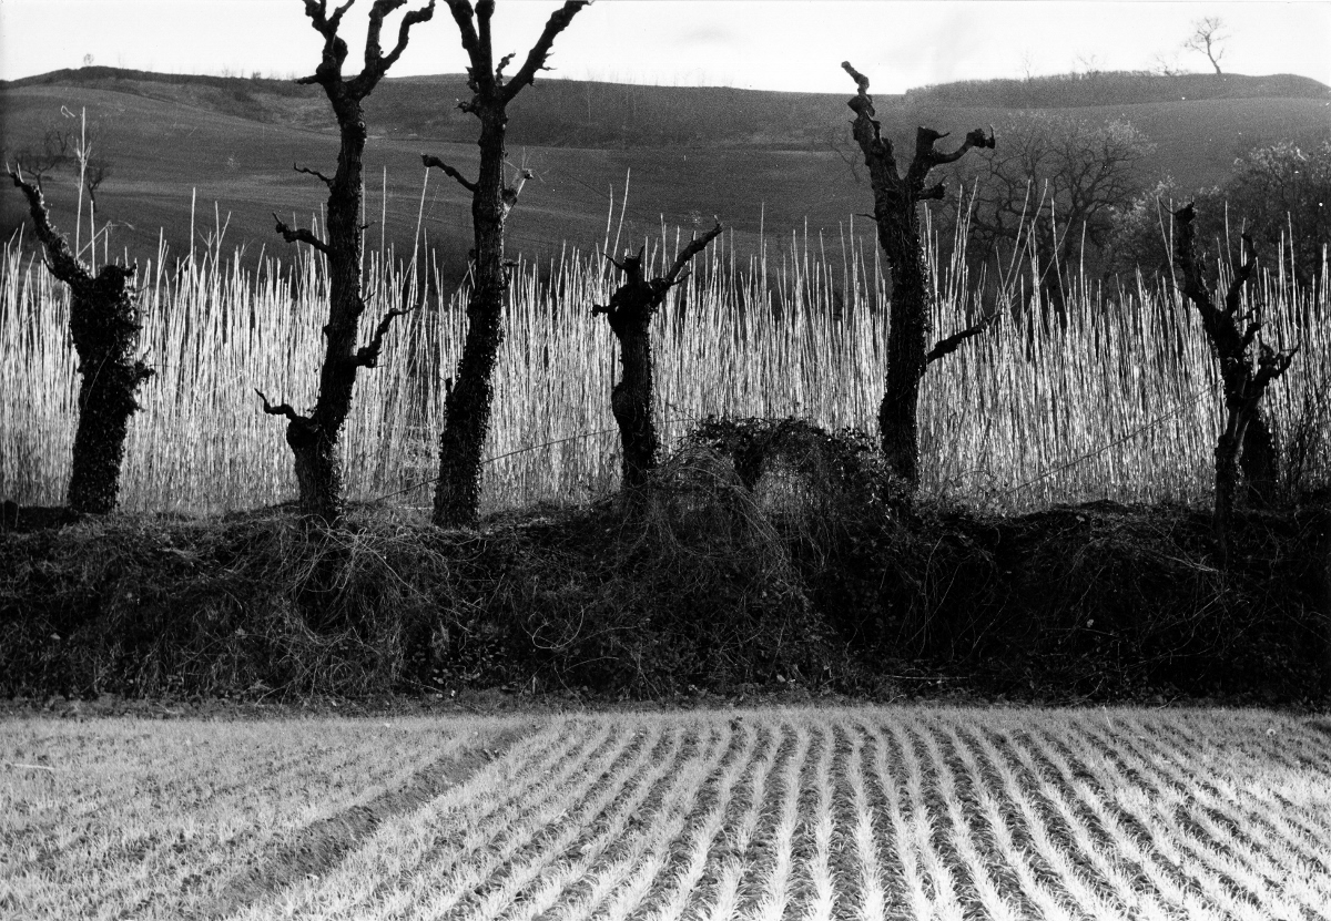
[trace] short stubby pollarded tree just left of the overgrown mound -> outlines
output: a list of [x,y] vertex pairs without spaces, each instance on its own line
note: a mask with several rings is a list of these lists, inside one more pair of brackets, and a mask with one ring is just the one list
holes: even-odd
[[592,315],[606,314],[610,329],[619,339],[619,361],[624,374],[610,395],[611,411],[619,426],[619,441],[624,451],[623,486],[642,486],[648,472],[656,467],[656,421],[652,390],[652,317],[666,302],[666,294],[683,279],[684,268],[721,233],[721,225],[689,242],[675,260],[671,270],[647,281],[643,276],[643,253],[630,256],[623,262],[611,260],[624,273],[624,283],[606,306],[592,307]]

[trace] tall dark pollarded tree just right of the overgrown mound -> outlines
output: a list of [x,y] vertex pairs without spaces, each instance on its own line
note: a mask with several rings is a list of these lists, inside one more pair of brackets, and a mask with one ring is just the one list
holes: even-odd
[[878,245],[892,270],[888,375],[882,403],[878,406],[882,454],[892,471],[914,487],[920,483],[920,379],[930,362],[956,351],[962,342],[988,326],[988,321],[980,322],[926,350],[933,294],[920,240],[918,205],[942,198],[944,194],[941,182],[925,185],[929,170],[960,160],[972,148],[993,148],[994,138],[977,128],[966,134],[960,148],[952,153],[941,153],[933,145],[946,134],[920,128],[916,132],[914,157],[902,176],[897,172],[892,141],[882,136],[881,124],[873,117],[869,79],[851,67],[849,61],[841,67],[858,87],[855,98],[848,102],[855,112],[851,130],[864,154],[864,165],[869,169]]

